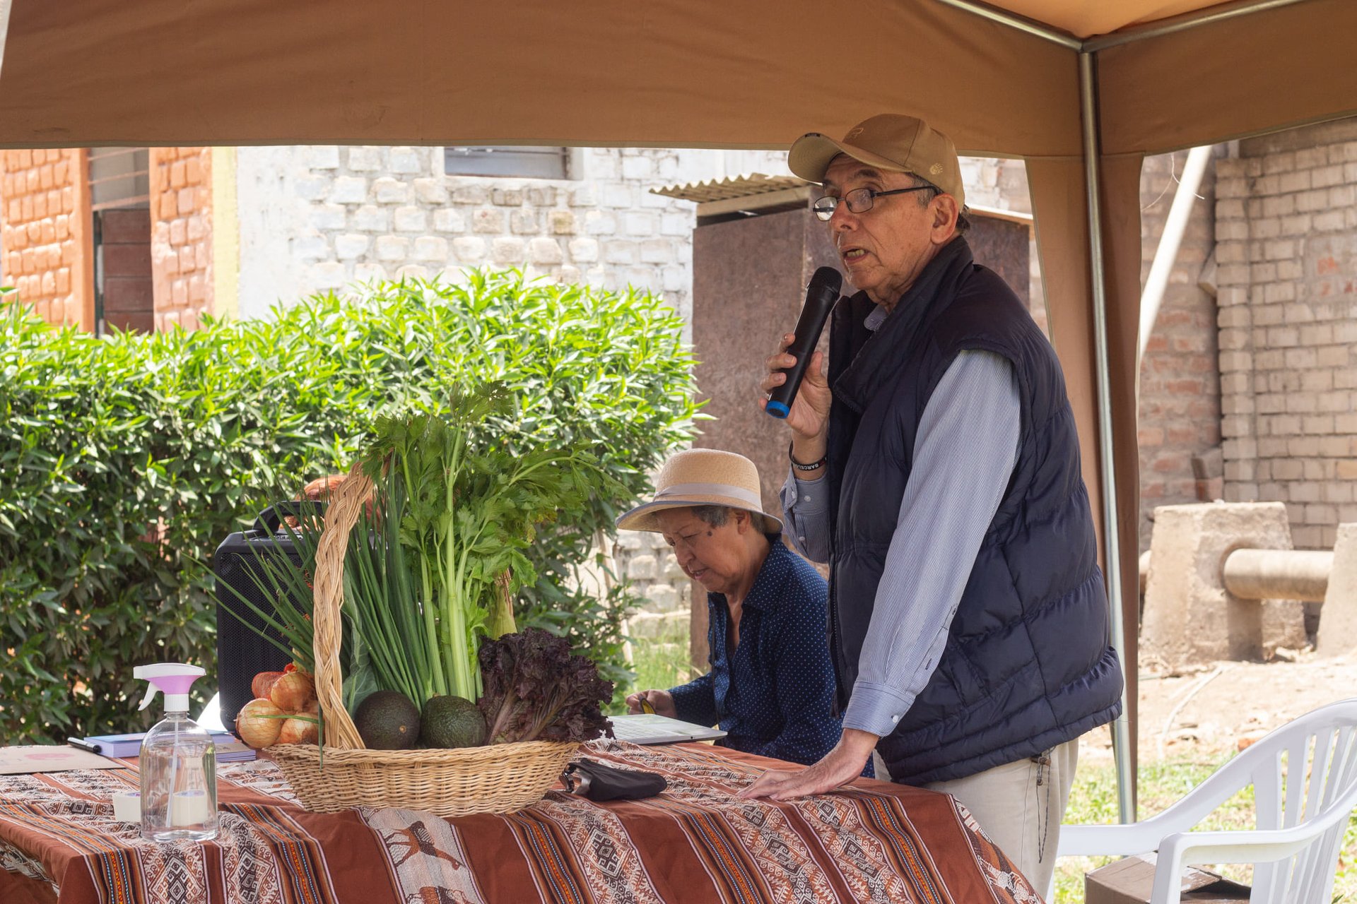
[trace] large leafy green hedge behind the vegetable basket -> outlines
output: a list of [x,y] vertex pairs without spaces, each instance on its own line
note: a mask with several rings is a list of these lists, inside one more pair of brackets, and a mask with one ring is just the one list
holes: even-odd
[[[134,664],[214,663],[221,539],[347,468],[379,413],[461,374],[518,392],[506,428],[585,440],[645,492],[696,412],[680,331],[647,293],[517,272],[379,283],[151,336],[95,339],[0,305],[0,743],[149,724]],[[562,512],[518,607],[520,623],[570,634],[613,679],[634,600],[570,587],[630,501]]]

